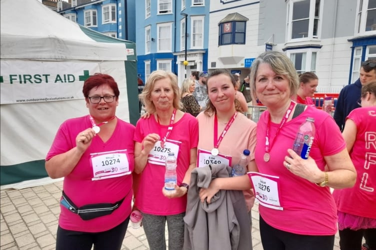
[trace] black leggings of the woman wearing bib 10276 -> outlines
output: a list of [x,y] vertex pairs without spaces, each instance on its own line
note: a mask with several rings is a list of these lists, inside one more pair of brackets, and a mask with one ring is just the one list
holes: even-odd
[[333,250],[333,235],[303,235],[282,231],[268,225],[259,217],[261,242],[264,250]]

